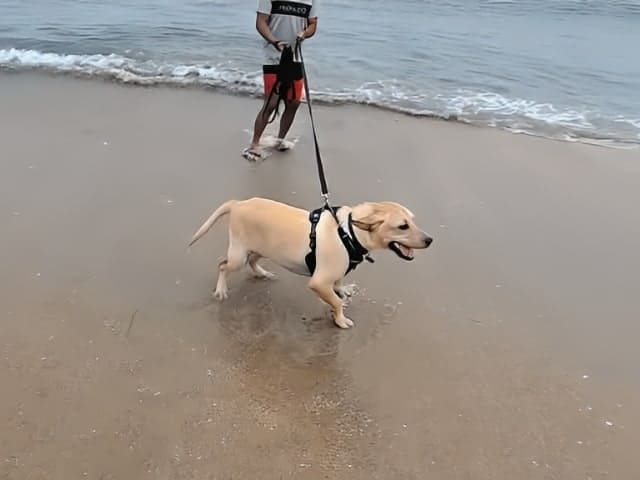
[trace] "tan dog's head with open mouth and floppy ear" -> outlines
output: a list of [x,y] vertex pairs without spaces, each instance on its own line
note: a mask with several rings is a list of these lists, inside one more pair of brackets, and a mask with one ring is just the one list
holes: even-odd
[[411,211],[394,202],[366,202],[352,211],[354,227],[364,230],[369,250],[388,248],[403,260],[413,260],[413,250],[427,248],[433,238],[414,221]]

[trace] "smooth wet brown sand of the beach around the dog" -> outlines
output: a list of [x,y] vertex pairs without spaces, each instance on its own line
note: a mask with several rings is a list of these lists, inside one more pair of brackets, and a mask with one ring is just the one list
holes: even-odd
[[259,101],[0,76],[0,479],[640,478],[640,153],[317,107],[336,203],[435,237],[353,274],[211,298],[222,201],[319,205],[306,111],[249,165]]

